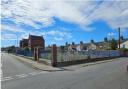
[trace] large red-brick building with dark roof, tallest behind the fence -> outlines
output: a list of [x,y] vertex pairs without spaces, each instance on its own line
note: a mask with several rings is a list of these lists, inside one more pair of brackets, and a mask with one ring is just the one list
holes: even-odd
[[28,47],[30,50],[34,50],[34,47],[45,49],[45,40],[43,36],[29,35]]

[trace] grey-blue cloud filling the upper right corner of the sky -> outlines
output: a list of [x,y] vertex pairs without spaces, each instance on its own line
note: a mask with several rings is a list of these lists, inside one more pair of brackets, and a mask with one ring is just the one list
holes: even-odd
[[90,20],[102,19],[108,25],[117,29],[118,27],[128,27],[128,2],[127,1],[108,1],[102,2],[89,17]]

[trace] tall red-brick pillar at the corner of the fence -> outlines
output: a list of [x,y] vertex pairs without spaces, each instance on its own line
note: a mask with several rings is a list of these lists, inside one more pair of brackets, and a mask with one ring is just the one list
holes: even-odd
[[57,47],[55,44],[52,46],[52,66],[56,67],[57,66]]

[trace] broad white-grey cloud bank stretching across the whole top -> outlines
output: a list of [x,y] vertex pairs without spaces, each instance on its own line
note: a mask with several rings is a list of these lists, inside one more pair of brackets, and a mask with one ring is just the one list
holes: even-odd
[[[2,0],[2,18],[12,18],[16,24],[35,29],[54,25],[54,17],[77,24],[85,31],[96,20],[104,20],[115,29],[128,27],[127,1],[84,0]],[[37,24],[41,23],[41,25]]]

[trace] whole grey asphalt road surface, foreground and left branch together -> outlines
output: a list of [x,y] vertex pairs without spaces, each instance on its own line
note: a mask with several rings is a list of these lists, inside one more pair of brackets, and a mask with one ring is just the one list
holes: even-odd
[[[4,54],[2,58],[5,75],[11,76],[13,72],[26,73],[26,76],[24,74],[19,78],[13,74],[12,79],[2,81],[2,89],[128,89],[128,58],[86,66],[75,71],[56,72],[35,70],[8,54]],[[13,70],[11,74],[8,74],[9,70]]]

